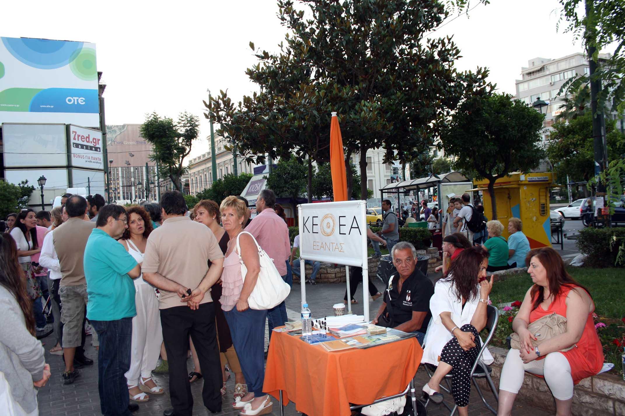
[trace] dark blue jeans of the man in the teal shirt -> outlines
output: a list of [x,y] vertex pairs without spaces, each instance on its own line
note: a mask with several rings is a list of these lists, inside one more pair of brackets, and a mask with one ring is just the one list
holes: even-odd
[[90,320],[98,332],[98,392],[104,416],[131,416],[126,372],[130,369],[133,318]]

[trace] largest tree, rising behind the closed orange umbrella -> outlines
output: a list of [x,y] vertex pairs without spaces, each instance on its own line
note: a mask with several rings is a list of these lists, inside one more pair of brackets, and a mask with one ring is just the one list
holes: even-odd
[[327,161],[330,112],[336,111],[346,167],[360,154],[366,198],[368,149],[383,147],[386,162],[412,162],[418,154],[412,149],[431,147],[441,121],[464,97],[492,87],[486,69],[457,71],[460,51],[450,37],[427,37],[464,9],[465,0],[302,0],[306,17],[291,0],[277,4],[289,31],[279,54],[250,42],[258,63],[246,73],[260,94],[236,105],[222,91],[206,104],[219,133],[248,158],[295,154],[301,162],[304,156],[309,163]]

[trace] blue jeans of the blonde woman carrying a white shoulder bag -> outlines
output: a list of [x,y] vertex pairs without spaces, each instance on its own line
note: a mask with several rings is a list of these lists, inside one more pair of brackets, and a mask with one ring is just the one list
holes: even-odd
[[[262,383],[265,379],[265,359],[262,350],[265,345],[266,310],[247,309],[243,312],[224,310],[232,335],[232,345],[236,351],[241,370],[247,382],[247,391],[254,397],[262,397]],[[271,334],[271,333],[270,333]]]

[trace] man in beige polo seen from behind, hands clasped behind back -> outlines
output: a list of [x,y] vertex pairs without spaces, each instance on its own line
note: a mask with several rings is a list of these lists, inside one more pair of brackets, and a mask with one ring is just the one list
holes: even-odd
[[[193,397],[187,376],[189,335],[204,375],[202,399],[211,412],[221,411],[222,376],[215,329],[215,305],[205,295],[221,277],[224,255],[212,231],[186,216],[183,194],[161,197],[163,225],[148,237],[141,270],[143,280],[161,290],[159,308],[169,361],[169,395],[173,409],[165,416],[191,416]],[[209,269],[208,260],[212,265]],[[189,297],[193,294],[192,299]]]

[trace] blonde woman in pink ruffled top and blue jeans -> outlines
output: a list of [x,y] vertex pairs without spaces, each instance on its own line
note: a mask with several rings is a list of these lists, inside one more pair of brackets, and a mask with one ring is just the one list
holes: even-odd
[[[221,274],[221,309],[232,335],[232,344],[239,356],[241,369],[247,381],[248,393],[237,397],[232,407],[241,415],[264,415],[271,413],[271,399],[262,392],[265,379],[264,340],[266,310],[249,309],[247,298],[252,293],[261,271],[256,240],[243,231],[247,207],[237,197],[229,196],[221,202],[221,224],[230,240],[224,255],[224,271]],[[239,234],[241,234],[239,236]],[[237,240],[241,252],[237,252]],[[241,275],[241,260],[247,269]]]

